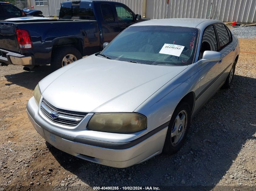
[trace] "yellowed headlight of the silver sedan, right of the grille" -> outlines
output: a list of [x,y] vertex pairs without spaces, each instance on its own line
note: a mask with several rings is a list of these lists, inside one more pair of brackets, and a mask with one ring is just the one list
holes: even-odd
[[131,133],[147,128],[147,119],[138,113],[95,113],[87,129]]

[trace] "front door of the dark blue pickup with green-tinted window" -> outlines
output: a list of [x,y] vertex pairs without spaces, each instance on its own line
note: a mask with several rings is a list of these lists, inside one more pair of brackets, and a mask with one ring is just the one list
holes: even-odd
[[115,4],[117,20],[119,25],[119,32],[123,31],[132,24],[135,24],[135,15],[125,5]]

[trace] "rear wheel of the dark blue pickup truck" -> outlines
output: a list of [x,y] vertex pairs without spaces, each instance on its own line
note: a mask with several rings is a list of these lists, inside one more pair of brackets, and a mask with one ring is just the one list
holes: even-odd
[[52,58],[51,68],[52,71],[58,70],[65,65],[75,62],[82,58],[81,53],[74,47],[61,47],[58,48]]

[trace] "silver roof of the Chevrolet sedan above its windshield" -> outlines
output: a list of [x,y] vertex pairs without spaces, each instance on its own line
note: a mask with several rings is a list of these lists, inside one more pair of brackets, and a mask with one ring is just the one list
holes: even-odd
[[177,27],[192,27],[204,29],[210,24],[222,23],[219,20],[213,19],[197,19],[197,18],[172,18],[172,19],[154,19],[139,22],[132,26],[177,26]]

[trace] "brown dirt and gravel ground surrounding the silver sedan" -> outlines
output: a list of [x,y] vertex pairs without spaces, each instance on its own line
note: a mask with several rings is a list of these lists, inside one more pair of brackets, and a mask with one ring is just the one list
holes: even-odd
[[256,39],[241,39],[240,46],[232,87],[218,91],[197,114],[184,147],[126,169],[65,154],[32,127],[26,103],[50,66],[33,72],[1,67],[0,191],[160,185],[161,190],[256,190]]

